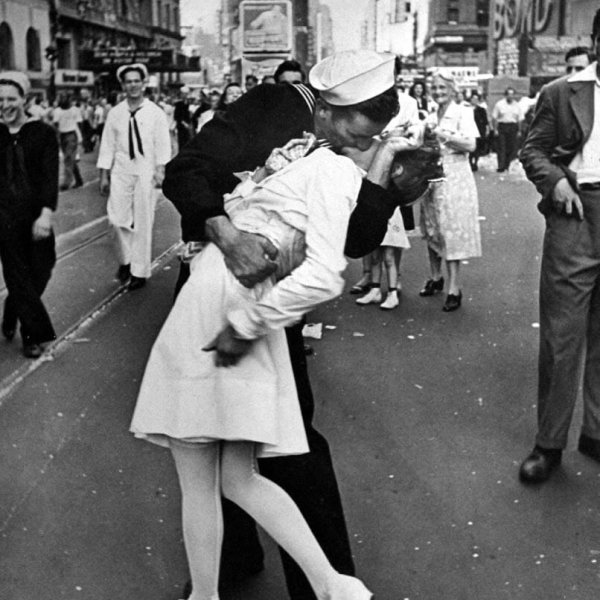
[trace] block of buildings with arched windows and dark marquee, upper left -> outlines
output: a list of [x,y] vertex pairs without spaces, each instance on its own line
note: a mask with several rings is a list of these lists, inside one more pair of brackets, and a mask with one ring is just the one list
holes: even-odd
[[115,88],[130,60],[177,85],[179,27],[179,0],[0,0],[0,67],[26,71],[51,96]]

